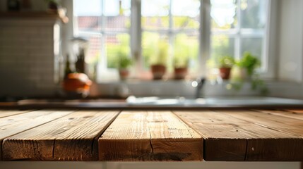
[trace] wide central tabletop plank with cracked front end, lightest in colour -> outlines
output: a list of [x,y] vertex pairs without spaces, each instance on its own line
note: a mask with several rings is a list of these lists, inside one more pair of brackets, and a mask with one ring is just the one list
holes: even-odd
[[203,139],[170,111],[123,111],[99,139],[100,161],[202,161]]

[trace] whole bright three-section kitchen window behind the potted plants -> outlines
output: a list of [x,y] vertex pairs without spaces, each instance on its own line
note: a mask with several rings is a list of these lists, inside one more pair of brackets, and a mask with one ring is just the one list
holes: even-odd
[[[136,58],[138,66],[133,67],[137,74],[163,61],[168,75],[173,65],[185,63],[195,76],[205,66],[201,65],[202,57],[240,58],[244,51],[260,56],[262,70],[266,71],[269,1],[73,0],[74,33],[90,41],[87,62],[91,72],[109,79],[114,77],[112,70],[121,50]],[[202,17],[201,22],[205,2],[211,7],[210,27],[201,24],[208,20]],[[203,31],[210,32],[210,42],[201,39]],[[203,46],[210,46],[210,56],[202,56]],[[162,58],[156,57],[160,48],[167,52]]]

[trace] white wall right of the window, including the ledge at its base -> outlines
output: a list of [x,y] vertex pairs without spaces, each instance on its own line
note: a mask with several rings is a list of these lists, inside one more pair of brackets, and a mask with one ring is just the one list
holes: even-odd
[[278,82],[270,82],[271,96],[303,99],[303,1],[272,0],[277,2],[278,29],[275,75]]

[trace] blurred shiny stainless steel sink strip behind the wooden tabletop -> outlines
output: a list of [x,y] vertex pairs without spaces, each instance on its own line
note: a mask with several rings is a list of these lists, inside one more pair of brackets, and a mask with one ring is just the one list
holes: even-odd
[[228,96],[199,99],[160,98],[129,96],[127,104],[132,106],[194,106],[194,107],[231,107],[231,106],[300,106],[303,100],[283,99],[265,96]]

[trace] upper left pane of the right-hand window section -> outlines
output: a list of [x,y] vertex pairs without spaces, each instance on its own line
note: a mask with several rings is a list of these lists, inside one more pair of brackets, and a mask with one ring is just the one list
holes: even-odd
[[237,25],[237,1],[211,0],[211,24],[215,29],[228,30]]

